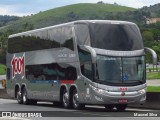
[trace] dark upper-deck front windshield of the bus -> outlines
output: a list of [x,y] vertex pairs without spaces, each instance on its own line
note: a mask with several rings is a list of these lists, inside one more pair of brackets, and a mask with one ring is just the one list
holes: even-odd
[[91,46],[108,50],[139,50],[143,42],[136,25],[90,24]]

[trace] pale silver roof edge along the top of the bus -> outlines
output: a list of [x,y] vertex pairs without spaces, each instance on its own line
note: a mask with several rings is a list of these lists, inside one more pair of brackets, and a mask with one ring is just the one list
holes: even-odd
[[74,24],[89,24],[89,23],[100,23],[100,24],[134,24],[134,23],[128,22],[128,21],[117,21],[117,20],[78,20],[78,21],[73,21],[73,22],[68,22],[68,23],[63,23],[63,24],[58,24],[58,25],[54,25],[54,26],[49,26],[49,27],[44,27],[44,28],[40,28],[40,29],[35,29],[35,30],[30,30],[30,31],[26,31],[26,32],[21,32],[21,33],[13,34],[13,35],[10,35],[9,38],[17,37],[17,36],[22,36],[22,35],[27,35],[27,34],[32,34],[32,33],[35,33],[35,32],[49,30],[49,29],[53,29],[53,28],[56,28],[56,27],[73,26]]

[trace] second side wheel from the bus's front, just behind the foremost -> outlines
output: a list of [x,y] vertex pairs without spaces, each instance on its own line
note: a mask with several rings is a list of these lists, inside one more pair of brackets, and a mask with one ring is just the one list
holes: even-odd
[[70,100],[69,100],[69,94],[67,93],[67,90],[65,89],[63,91],[63,106],[65,108],[70,108]]

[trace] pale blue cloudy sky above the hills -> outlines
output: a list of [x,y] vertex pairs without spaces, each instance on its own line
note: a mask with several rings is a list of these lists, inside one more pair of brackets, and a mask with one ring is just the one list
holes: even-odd
[[0,0],[0,15],[26,16],[65,5],[98,1],[111,4],[116,2],[133,8],[160,3],[160,0]]

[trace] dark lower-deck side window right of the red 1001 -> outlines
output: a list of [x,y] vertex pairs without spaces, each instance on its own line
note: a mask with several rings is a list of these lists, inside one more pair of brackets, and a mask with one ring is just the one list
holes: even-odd
[[28,80],[75,80],[76,68],[67,64],[27,65],[26,78]]

